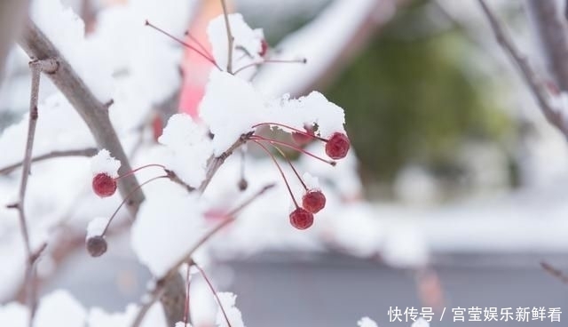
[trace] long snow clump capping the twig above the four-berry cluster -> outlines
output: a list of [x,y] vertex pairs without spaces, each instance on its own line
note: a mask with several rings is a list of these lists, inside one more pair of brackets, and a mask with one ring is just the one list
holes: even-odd
[[[318,124],[318,134],[323,138],[334,132],[345,132],[343,108],[329,102],[319,92],[297,100],[284,95],[278,100],[265,101],[248,82],[217,70],[209,76],[200,116],[214,134],[215,156],[260,123],[286,124],[298,130],[303,130],[306,124]],[[274,127],[291,132],[278,125]]]

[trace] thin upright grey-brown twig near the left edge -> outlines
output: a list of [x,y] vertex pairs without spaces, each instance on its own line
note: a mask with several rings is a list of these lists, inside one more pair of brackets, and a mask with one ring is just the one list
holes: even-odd
[[20,192],[18,194],[18,202],[8,205],[8,208],[18,210],[20,217],[20,231],[24,240],[26,249],[26,275],[24,284],[28,285],[27,302],[29,308],[29,322],[31,326],[32,318],[36,312],[36,290],[34,287],[35,263],[41,251],[45,248],[43,245],[39,251],[32,251],[32,246],[29,240],[28,219],[26,219],[25,201],[26,189],[28,187],[28,177],[32,164],[32,151],[34,149],[34,139],[36,137],[36,124],[38,118],[37,111],[37,97],[39,93],[39,82],[42,72],[52,74],[58,69],[58,63],[55,60],[33,60],[29,63],[29,68],[32,70],[32,86],[31,95],[29,98],[29,121],[28,121],[28,138],[26,140],[26,149],[24,151],[24,159],[22,161]]

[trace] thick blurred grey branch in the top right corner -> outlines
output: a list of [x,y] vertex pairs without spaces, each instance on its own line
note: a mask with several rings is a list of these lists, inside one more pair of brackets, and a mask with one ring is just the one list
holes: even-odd
[[562,91],[568,91],[568,28],[556,1],[526,0],[526,8],[540,36],[548,73]]

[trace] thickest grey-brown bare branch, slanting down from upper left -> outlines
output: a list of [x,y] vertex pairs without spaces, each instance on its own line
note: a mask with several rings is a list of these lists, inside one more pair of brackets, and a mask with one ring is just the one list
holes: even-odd
[[[49,75],[51,81],[67,97],[67,100],[83,118],[87,126],[89,126],[99,148],[106,148],[116,159],[121,161],[119,174],[123,175],[131,171],[128,157],[124,153],[121,142],[118,140],[118,136],[108,117],[107,105],[93,95],[67,60],[61,56],[51,41],[43,35],[43,32],[31,20],[28,20],[24,28],[20,46],[31,58],[40,60],[56,58],[58,60],[59,69],[54,74]],[[138,187],[138,180],[134,175],[130,175],[121,179],[118,187],[121,195],[126,196]],[[144,194],[138,189],[129,202],[129,210],[134,216],[142,201],[144,201]]]

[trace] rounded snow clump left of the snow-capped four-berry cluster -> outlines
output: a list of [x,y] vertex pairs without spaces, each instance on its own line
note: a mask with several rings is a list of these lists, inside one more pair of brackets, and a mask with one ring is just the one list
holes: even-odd
[[209,134],[191,116],[177,114],[170,117],[158,141],[168,148],[165,164],[177,177],[193,187],[199,187],[206,176],[213,147]]

